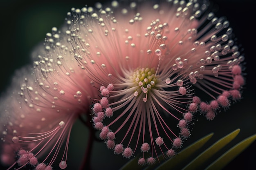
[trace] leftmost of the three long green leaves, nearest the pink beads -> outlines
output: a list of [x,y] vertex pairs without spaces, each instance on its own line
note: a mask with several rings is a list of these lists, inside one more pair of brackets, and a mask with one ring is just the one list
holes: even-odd
[[[179,152],[175,157],[162,163],[159,167],[157,167],[157,170],[173,169],[179,164],[182,165],[184,160],[188,159],[195,151],[199,150],[212,136],[213,133],[210,133],[209,135],[203,137],[202,139],[199,139],[195,143],[186,147],[184,150]],[[155,164],[157,165],[157,163]],[[154,166],[148,166],[146,169],[150,170],[153,168]]]

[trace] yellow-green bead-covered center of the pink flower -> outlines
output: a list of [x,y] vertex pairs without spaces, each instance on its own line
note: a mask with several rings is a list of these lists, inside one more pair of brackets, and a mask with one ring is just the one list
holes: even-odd
[[131,82],[134,82],[133,87],[137,87],[134,92],[134,96],[145,94],[143,101],[146,102],[148,99],[148,92],[151,88],[155,87],[157,83],[157,75],[154,68],[137,68],[130,76]]

